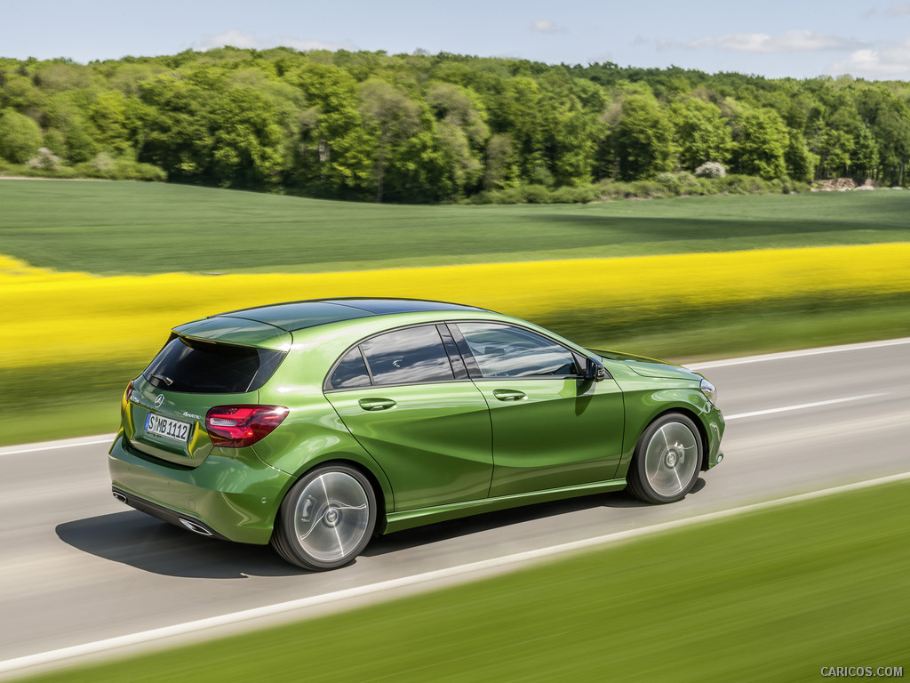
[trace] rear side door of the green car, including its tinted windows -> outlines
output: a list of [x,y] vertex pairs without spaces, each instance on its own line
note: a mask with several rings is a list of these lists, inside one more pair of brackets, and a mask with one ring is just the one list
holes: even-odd
[[490,412],[444,325],[360,342],[329,373],[326,397],[389,477],[396,511],[486,497]]

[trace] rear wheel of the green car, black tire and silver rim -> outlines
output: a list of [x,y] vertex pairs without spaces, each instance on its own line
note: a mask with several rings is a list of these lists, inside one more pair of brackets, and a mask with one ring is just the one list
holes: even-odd
[[278,508],[271,544],[293,565],[312,571],[349,564],[376,528],[376,494],[346,464],[327,464],[300,477]]

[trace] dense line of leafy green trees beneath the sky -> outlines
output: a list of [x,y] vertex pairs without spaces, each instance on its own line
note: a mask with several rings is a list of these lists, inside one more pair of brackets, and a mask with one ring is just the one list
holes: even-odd
[[283,47],[88,65],[0,58],[0,157],[395,202],[706,162],[764,179],[905,185],[910,84]]

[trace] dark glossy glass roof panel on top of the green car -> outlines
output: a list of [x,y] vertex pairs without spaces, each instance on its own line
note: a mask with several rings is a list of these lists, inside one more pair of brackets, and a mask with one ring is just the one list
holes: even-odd
[[423,311],[486,311],[486,309],[446,301],[347,297],[287,301],[285,303],[219,313],[209,316],[208,320],[212,318],[235,318],[257,321],[281,330],[293,332],[329,324],[330,322]]

